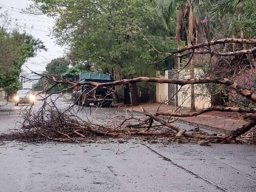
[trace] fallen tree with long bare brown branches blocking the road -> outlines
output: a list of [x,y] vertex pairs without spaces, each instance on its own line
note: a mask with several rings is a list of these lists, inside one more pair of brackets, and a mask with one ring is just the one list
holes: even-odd
[[[214,48],[213,45],[216,44],[256,44],[256,40],[245,40],[245,39],[222,39],[203,42],[200,44],[185,46],[176,52],[158,52],[160,54],[166,54],[169,56],[188,56],[190,59],[187,64],[179,70],[177,73],[180,73],[188,64],[191,62],[191,58],[194,54],[212,54],[218,56],[234,56],[234,55],[243,55],[254,52],[255,48],[252,48],[250,51],[241,50],[234,52],[218,52],[218,49]],[[186,52],[188,51],[188,52]],[[183,53],[185,52],[185,53]],[[183,54],[182,54],[183,53]],[[59,140],[59,141],[74,141],[79,139],[84,139],[88,134],[93,134],[96,136],[107,136],[107,137],[122,137],[122,136],[167,136],[173,140],[179,140],[180,138],[186,138],[188,140],[211,140],[214,142],[235,142],[236,137],[241,136],[242,134],[249,131],[256,125],[256,109],[255,108],[235,108],[235,107],[222,107],[222,106],[213,106],[205,108],[196,112],[182,113],[182,112],[170,112],[170,111],[156,111],[154,114],[148,113],[145,109],[142,108],[145,118],[137,118],[133,116],[132,113],[127,114],[126,116],[120,116],[115,114],[110,119],[110,124],[100,124],[99,122],[93,122],[90,120],[84,120],[78,118],[75,113],[71,113],[74,110],[75,104],[70,104],[68,108],[60,110],[58,106],[54,103],[55,101],[51,100],[53,94],[65,94],[68,90],[72,90],[76,86],[92,86],[92,89],[84,95],[83,100],[86,101],[86,98],[89,94],[92,96],[95,94],[95,90],[99,87],[104,87],[108,89],[108,94],[113,93],[114,86],[133,84],[137,82],[154,82],[154,83],[165,83],[165,84],[177,84],[180,86],[191,85],[191,84],[221,84],[237,92],[237,94],[247,98],[252,103],[256,102],[256,91],[251,90],[245,86],[238,84],[238,82],[225,78],[224,76],[219,77],[204,77],[204,78],[194,78],[194,79],[162,79],[162,78],[149,78],[149,77],[138,77],[133,79],[123,79],[114,82],[107,83],[98,83],[98,82],[74,82],[70,80],[65,80],[61,76],[56,74],[38,74],[40,78],[44,78],[48,82],[53,82],[54,84],[47,88],[45,86],[42,93],[48,93],[54,86],[58,84],[65,84],[66,88],[58,92],[53,92],[48,94],[45,97],[42,97],[41,100],[44,101],[43,107],[38,111],[33,111],[32,108],[28,109],[28,113],[23,116],[24,121],[22,122],[21,131],[18,132],[18,136],[22,138],[34,139],[48,139],[48,140]],[[46,83],[47,85],[47,83]],[[176,93],[175,93],[176,94]],[[51,102],[48,102],[48,100]],[[104,101],[104,98],[101,98],[100,101]],[[165,103],[167,103],[165,101]],[[74,102],[76,103],[76,101]],[[99,105],[100,106],[100,105]],[[84,106],[78,108],[78,110],[83,110]],[[250,120],[247,124],[233,130],[230,134],[207,134],[200,133],[195,134],[187,130],[183,130],[173,124],[176,119],[174,117],[192,117],[198,116],[200,114],[210,112],[210,111],[220,111],[220,112],[238,112],[242,114],[240,120]],[[29,114],[29,115],[28,115]],[[169,117],[169,120],[166,121],[163,116]],[[172,122],[170,122],[172,119]],[[16,134],[17,136],[17,134]]]

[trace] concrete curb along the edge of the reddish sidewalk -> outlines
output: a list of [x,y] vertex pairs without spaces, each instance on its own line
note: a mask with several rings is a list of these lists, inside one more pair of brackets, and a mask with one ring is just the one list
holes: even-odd
[[[120,108],[120,110],[125,111],[122,108]],[[133,111],[136,112],[136,113],[139,113],[139,114],[144,114],[142,111],[136,111],[136,110],[133,110]],[[161,115],[161,117],[163,118],[162,115]],[[225,133],[225,134],[230,133],[230,130],[226,130],[226,129],[215,127],[215,126],[211,126],[211,125],[205,125],[205,124],[196,123],[196,122],[192,122],[192,121],[188,121],[188,120],[184,120],[184,119],[178,119],[176,121],[180,122],[180,123],[186,123],[186,124],[198,126],[201,129],[205,129],[205,130],[210,130],[210,131],[220,132],[220,133]]]

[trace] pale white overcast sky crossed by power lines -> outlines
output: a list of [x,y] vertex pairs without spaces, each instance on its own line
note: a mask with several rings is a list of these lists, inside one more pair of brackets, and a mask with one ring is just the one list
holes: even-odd
[[[22,67],[23,70],[28,70],[26,67],[31,70],[42,72],[45,70],[45,66],[49,63],[50,60],[58,58],[64,54],[63,48],[57,46],[54,43],[54,39],[49,36],[52,26],[54,25],[54,20],[48,18],[45,15],[33,16],[28,14],[21,14],[19,9],[24,9],[28,4],[32,2],[29,0],[0,0],[0,13],[8,10],[10,17],[18,19],[16,22],[20,25],[26,24],[26,32],[32,34],[34,38],[39,38],[44,42],[48,51],[38,52],[37,56],[30,58],[28,62]],[[13,7],[13,8],[11,8]],[[39,18],[38,18],[39,17]],[[33,26],[33,28],[31,28]]]

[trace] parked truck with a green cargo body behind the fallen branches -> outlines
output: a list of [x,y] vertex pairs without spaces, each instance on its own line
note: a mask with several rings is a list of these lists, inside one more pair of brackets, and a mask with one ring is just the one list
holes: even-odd
[[[80,73],[79,82],[112,82],[109,74]],[[73,92],[74,102],[83,106],[110,107],[114,103],[110,88],[100,87],[84,98],[84,95],[94,87],[90,85],[77,86]]]

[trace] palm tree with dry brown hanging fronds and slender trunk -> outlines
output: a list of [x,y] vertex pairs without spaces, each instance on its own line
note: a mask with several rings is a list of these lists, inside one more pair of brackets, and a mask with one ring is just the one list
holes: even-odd
[[[207,21],[205,13],[211,4],[211,0],[158,0],[158,8],[167,29],[170,24],[170,17],[177,14],[176,40],[178,47],[180,46],[181,33],[186,36],[188,45],[201,41],[203,31],[201,20]],[[190,78],[194,78],[194,64],[191,63]],[[194,85],[191,85],[190,111],[195,110]]]

